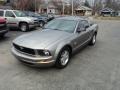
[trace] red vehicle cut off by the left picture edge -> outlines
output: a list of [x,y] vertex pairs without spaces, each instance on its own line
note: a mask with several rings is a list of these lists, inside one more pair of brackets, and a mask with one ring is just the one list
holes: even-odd
[[0,37],[4,37],[4,35],[8,32],[6,20],[0,17]]

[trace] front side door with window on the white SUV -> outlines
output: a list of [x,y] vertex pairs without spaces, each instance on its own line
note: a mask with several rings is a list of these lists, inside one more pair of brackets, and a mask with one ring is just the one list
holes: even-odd
[[7,20],[8,26],[16,26],[17,22],[16,22],[16,17],[13,14],[12,11],[6,11],[5,12],[5,19]]

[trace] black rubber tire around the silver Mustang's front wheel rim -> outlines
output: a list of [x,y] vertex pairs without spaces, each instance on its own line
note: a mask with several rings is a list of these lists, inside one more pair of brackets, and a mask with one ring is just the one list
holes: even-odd
[[[66,63],[63,64],[62,63],[62,55],[65,52],[68,52],[69,55],[68,55],[68,59],[66,59],[67,60]],[[59,69],[65,68],[70,61],[70,55],[71,55],[70,49],[68,47],[64,47],[58,54],[56,64],[55,64],[56,68],[59,68]]]

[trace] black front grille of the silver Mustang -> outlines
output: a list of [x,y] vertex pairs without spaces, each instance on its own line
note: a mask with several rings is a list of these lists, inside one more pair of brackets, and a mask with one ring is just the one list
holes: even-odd
[[13,44],[14,48],[17,49],[20,52],[26,53],[26,54],[30,54],[30,55],[35,55],[35,50],[30,49],[30,48],[26,48],[26,47],[22,47],[16,44]]

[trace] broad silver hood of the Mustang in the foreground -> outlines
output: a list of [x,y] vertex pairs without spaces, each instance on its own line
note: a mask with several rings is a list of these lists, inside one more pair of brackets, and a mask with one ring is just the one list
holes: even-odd
[[45,49],[48,45],[59,42],[71,36],[71,33],[56,31],[56,30],[43,30],[28,33],[16,38],[13,43],[32,49]]

